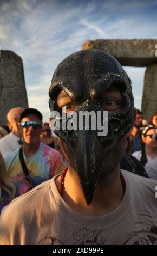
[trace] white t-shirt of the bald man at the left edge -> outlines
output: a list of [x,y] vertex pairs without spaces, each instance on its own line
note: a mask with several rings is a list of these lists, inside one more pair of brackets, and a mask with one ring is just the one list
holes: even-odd
[[12,132],[0,139],[0,152],[3,158],[21,147],[19,141],[21,141],[20,138]]

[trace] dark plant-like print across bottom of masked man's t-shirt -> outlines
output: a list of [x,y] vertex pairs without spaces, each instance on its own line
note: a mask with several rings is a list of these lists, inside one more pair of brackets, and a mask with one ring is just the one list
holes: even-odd
[[[141,226],[146,228],[140,229]],[[107,235],[108,230],[82,226],[74,229],[70,241],[73,241],[73,245],[157,245],[157,217],[142,210],[132,227],[135,231],[130,231],[122,237],[120,230],[119,237],[112,240]],[[38,242],[38,245],[66,245],[66,243],[56,235],[50,235]]]

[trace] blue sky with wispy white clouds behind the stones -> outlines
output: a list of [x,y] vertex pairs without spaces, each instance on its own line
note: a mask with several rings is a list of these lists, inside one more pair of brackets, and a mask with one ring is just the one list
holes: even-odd
[[[0,45],[23,59],[29,107],[48,120],[56,66],[87,39],[156,38],[157,1],[0,1]],[[145,68],[124,67],[141,108]]]

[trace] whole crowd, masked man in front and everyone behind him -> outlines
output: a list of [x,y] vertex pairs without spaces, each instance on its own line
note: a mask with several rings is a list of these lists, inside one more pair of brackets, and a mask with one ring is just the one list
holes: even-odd
[[64,59],[49,97],[51,111],[108,111],[108,134],[56,136],[37,109],[10,109],[0,127],[0,244],[157,244],[157,113],[143,120],[126,72],[99,50]]

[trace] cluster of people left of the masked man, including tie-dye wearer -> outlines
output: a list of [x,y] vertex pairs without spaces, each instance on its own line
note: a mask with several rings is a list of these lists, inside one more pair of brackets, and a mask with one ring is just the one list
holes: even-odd
[[[57,138],[45,129],[42,114],[34,108],[12,108],[8,112],[8,132],[0,139],[0,214],[3,206],[65,168]],[[2,126],[4,129],[4,126]],[[5,130],[6,131],[6,130]],[[50,135],[49,135],[50,133]],[[50,143],[45,140],[49,136]]]

